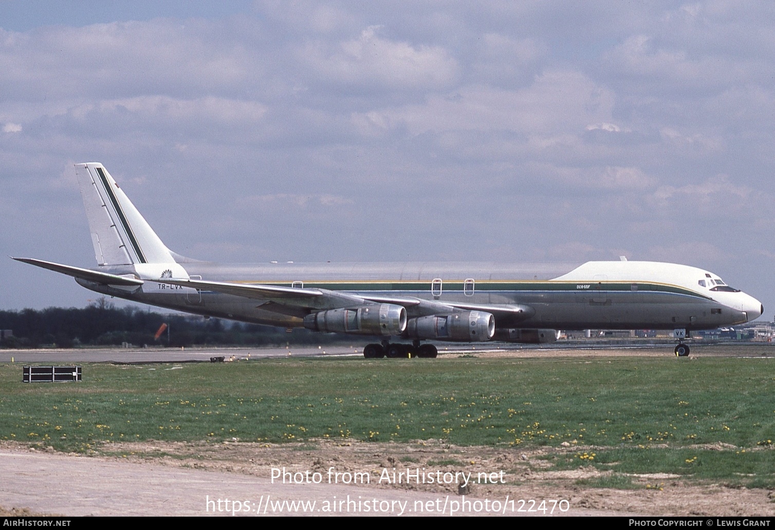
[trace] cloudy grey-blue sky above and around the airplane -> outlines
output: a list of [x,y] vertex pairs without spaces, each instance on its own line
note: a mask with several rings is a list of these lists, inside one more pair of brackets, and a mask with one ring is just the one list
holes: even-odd
[[[203,260],[625,255],[771,319],[773,132],[773,2],[0,1],[11,256],[95,265],[98,161]],[[0,277],[0,308],[96,296]]]

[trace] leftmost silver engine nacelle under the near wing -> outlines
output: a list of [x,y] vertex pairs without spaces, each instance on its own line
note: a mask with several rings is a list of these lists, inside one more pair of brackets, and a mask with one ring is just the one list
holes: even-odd
[[330,309],[304,318],[304,327],[319,332],[356,335],[401,335],[406,329],[406,309],[401,305],[374,304]]

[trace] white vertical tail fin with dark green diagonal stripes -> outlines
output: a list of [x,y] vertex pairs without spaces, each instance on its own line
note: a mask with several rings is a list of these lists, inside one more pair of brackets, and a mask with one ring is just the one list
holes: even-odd
[[75,174],[98,265],[175,262],[102,163],[77,163]]

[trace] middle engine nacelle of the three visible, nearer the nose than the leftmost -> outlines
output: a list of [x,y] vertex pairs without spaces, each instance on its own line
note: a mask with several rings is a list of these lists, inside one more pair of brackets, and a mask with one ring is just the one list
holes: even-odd
[[411,318],[406,325],[409,339],[484,342],[492,339],[495,317],[484,311],[460,311],[449,315]]

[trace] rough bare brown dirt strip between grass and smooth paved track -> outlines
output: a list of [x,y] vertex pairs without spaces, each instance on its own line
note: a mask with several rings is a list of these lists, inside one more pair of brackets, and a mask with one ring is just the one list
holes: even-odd
[[[20,444],[0,443],[0,449],[33,450]],[[594,448],[585,448],[594,451]],[[51,449],[49,449],[51,451]],[[291,473],[301,472],[313,477],[318,472],[324,481],[329,480],[330,468],[335,473],[370,473],[370,484],[363,488],[392,488],[399,490],[423,490],[440,494],[467,494],[470,498],[499,498],[508,495],[512,499],[568,501],[575,509],[601,511],[611,515],[698,515],[698,516],[775,516],[775,491],[730,488],[720,484],[687,484],[680,477],[668,475],[643,475],[633,478],[636,489],[607,489],[579,486],[580,479],[602,477],[605,472],[592,466],[579,466],[575,470],[547,471],[547,453],[576,452],[577,448],[505,449],[493,447],[458,447],[445,442],[425,440],[408,444],[375,442],[336,442],[312,440],[299,443],[273,445],[254,442],[143,442],[111,443],[100,448],[102,455],[95,458],[114,459],[133,463],[154,463],[200,470],[241,473],[270,478],[272,469]],[[106,456],[107,455],[107,456]],[[83,458],[83,456],[73,456]],[[387,484],[383,473],[420,470],[426,477],[433,474],[465,471],[473,473],[475,483],[480,477],[493,479],[495,484],[472,484],[467,490],[459,484]],[[501,471],[503,472],[501,474]],[[310,473],[307,475],[307,472]],[[277,473],[277,472],[275,472]],[[439,474],[441,473],[441,474]],[[296,475],[302,480],[301,475]],[[347,480],[348,475],[339,475]],[[452,477],[452,475],[447,475]],[[290,480],[290,479],[289,479]],[[505,483],[505,484],[503,484]],[[131,495],[131,492],[127,492]],[[528,505],[525,505],[528,508]],[[2,510],[0,515],[31,515],[23,508]]]

